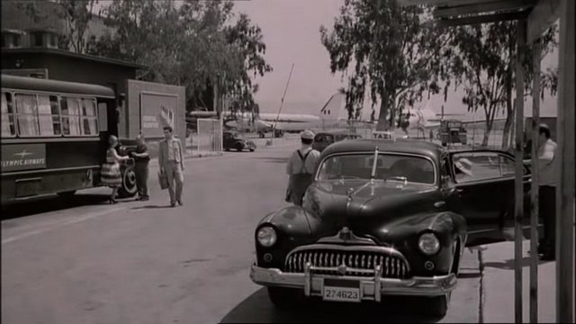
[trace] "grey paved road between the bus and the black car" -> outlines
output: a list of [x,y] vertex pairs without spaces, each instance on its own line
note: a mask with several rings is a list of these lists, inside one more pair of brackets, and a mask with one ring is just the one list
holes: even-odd
[[481,274],[469,250],[444,319],[419,317],[411,300],[275,310],[248,268],[257,221],[284,205],[292,148],[187,160],[184,207],[167,208],[167,193],[152,178],[149,202],[109,205],[101,188],[75,202],[53,198],[5,210],[2,322],[478,322]]

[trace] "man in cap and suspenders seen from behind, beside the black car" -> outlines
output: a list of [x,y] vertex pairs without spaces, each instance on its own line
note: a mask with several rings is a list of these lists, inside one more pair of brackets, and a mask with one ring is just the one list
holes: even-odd
[[305,130],[300,134],[302,147],[295,150],[286,165],[286,173],[290,175],[286,201],[295,205],[302,205],[302,198],[306,189],[313,181],[314,169],[318,163],[320,152],[312,148],[314,133]]

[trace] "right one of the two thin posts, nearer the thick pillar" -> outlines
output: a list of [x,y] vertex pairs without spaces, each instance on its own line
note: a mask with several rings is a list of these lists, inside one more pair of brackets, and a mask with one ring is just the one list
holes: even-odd
[[540,39],[534,41],[532,73],[532,187],[530,190],[530,323],[538,322],[538,138],[540,137]]

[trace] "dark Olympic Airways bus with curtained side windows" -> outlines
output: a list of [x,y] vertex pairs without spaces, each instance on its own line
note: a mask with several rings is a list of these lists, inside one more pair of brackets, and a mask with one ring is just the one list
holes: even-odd
[[[100,186],[116,95],[102,85],[2,75],[2,204]],[[120,155],[134,148],[121,139]],[[119,195],[137,192],[133,159],[121,164]]]

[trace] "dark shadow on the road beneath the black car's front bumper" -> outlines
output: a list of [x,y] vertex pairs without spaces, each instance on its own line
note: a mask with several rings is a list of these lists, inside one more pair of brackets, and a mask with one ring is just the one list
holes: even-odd
[[431,319],[419,315],[422,302],[409,298],[383,298],[380,304],[362,304],[307,301],[292,311],[275,308],[268,300],[266,288],[259,289],[220,321],[221,323],[359,323],[359,322],[410,322],[436,323],[441,319]]

